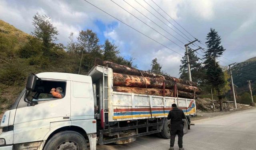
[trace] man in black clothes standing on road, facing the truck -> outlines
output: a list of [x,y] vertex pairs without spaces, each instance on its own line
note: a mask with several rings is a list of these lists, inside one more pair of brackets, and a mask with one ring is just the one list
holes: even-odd
[[167,119],[171,119],[171,140],[170,140],[170,148],[169,150],[174,150],[174,141],[175,136],[178,134],[178,145],[180,150],[184,150],[182,146],[182,137],[183,137],[183,121],[186,116],[184,112],[177,108],[176,104],[172,104],[172,110],[170,110]]

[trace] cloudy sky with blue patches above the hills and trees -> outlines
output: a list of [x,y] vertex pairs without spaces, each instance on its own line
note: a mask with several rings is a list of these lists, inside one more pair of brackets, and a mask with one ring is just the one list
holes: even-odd
[[[70,32],[76,38],[79,31],[91,29],[97,33],[100,44],[109,39],[118,46],[121,56],[134,58],[138,69],[150,69],[151,61],[157,58],[164,72],[175,77],[179,77],[184,43],[194,40],[194,36],[204,44],[210,28],[218,31],[226,49],[223,57],[218,58],[221,65],[242,62],[256,56],[255,0],[153,0],[172,18],[152,0],[87,1],[151,39],[85,0],[0,0],[0,19],[31,33],[32,17],[36,12],[50,16],[52,24],[59,31],[57,42],[64,45],[68,43]],[[206,48],[203,44],[196,44]],[[203,52],[199,50],[198,53],[202,58],[200,54],[203,55]]]

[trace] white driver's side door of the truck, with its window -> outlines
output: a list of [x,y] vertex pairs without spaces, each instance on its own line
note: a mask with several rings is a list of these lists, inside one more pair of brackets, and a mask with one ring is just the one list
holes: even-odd
[[[56,87],[62,88],[64,97],[49,94]],[[28,98],[38,104],[29,106],[20,100],[14,119],[14,144],[43,140],[50,131],[50,122],[70,120],[70,81],[42,79]]]

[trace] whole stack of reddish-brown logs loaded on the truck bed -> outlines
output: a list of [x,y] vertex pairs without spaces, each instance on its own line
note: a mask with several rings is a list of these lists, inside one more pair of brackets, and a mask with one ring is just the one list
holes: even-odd
[[162,76],[96,58],[95,65],[113,70],[114,91],[156,96],[196,98],[202,90],[196,82]]

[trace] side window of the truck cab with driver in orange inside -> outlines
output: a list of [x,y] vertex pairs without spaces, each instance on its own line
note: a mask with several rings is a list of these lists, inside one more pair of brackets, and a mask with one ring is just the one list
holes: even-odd
[[32,101],[55,100],[65,97],[66,82],[38,80],[34,91],[29,91],[28,99]]

